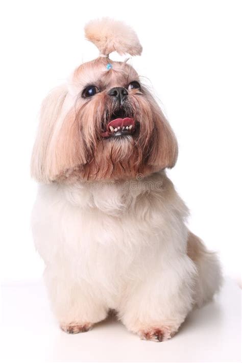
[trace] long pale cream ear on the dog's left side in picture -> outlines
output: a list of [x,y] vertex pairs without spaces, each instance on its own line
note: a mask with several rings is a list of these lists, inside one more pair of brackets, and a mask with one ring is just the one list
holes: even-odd
[[39,182],[50,183],[52,181],[54,158],[51,152],[53,150],[52,142],[66,94],[66,87],[60,86],[54,89],[42,103],[39,127],[31,159],[31,176]]

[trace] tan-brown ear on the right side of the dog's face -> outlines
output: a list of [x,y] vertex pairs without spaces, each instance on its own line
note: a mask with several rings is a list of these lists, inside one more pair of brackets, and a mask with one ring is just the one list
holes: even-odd
[[168,124],[163,112],[157,108],[154,114],[155,129],[149,164],[154,170],[172,168],[177,161],[177,138]]

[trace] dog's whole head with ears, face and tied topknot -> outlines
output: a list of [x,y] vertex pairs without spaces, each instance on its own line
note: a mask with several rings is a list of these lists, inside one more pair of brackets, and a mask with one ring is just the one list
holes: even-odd
[[120,22],[89,23],[100,56],[80,65],[45,99],[32,156],[39,181],[126,180],[173,167],[177,142],[161,109],[127,62],[140,55],[136,34]]

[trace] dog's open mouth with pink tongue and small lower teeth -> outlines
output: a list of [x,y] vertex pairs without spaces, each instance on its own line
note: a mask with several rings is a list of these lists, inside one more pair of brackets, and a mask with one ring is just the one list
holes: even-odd
[[[115,118],[114,118],[115,117]],[[102,132],[102,137],[119,137],[124,135],[132,135],[135,132],[135,120],[133,117],[117,117],[113,118],[107,125],[106,131]]]

